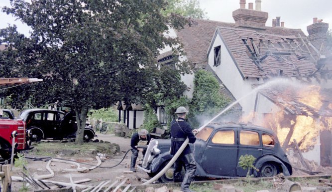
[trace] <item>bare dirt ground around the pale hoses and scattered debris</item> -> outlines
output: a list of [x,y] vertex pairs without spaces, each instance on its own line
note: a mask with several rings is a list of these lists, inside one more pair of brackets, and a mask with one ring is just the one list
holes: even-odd
[[[82,185],[96,185],[101,183],[102,181],[109,181],[112,182],[120,179],[128,180],[128,183],[131,183],[132,185],[140,185],[143,182],[139,181],[140,179],[149,180],[150,178],[148,175],[142,171],[137,170],[136,173],[127,173],[129,171],[130,167],[130,157],[131,152],[129,151],[124,160],[116,167],[110,168],[116,164],[118,164],[121,159],[123,158],[125,152],[130,150],[130,138],[122,138],[122,137],[116,137],[112,134],[110,135],[98,135],[99,140],[108,141],[111,143],[115,143],[119,145],[120,147],[120,153],[116,154],[114,156],[111,156],[111,158],[106,159],[102,162],[102,167],[104,168],[96,168],[94,170],[91,170],[87,173],[79,173],[79,172],[68,172],[63,171],[63,169],[76,169],[76,167],[73,167],[71,164],[65,164],[65,163],[58,163],[53,162],[51,164],[51,169],[54,172],[54,177],[46,179],[50,181],[57,181],[57,182],[64,182],[64,183],[70,183],[70,177],[72,177],[73,181],[83,180],[83,179],[91,179],[92,181],[89,183],[83,183]],[[294,154],[293,154],[294,155]],[[26,156],[31,157],[31,155],[26,154]],[[38,158],[38,157],[37,157]],[[81,167],[90,168],[93,167],[93,165],[97,165],[97,160],[93,158],[91,155],[90,157],[76,157],[76,156],[57,156],[55,158],[62,158],[62,159],[69,159],[74,160],[77,162],[84,162],[90,165],[83,165],[81,164]],[[142,154],[139,154],[138,160],[142,158]],[[303,168],[301,167],[301,163],[297,158],[289,158],[291,163],[294,163],[294,167]],[[46,165],[48,162],[46,161],[35,161],[33,159],[27,159],[27,169],[31,175],[47,175],[49,172],[46,170]],[[139,161],[137,161],[137,164]],[[304,168],[305,170],[305,168]],[[332,168],[322,168],[322,167],[316,167],[316,170],[318,170],[320,175],[332,175]],[[21,170],[18,168],[13,168],[13,176],[19,176],[21,177],[22,174],[20,173]],[[293,176],[308,176],[309,174],[304,173],[300,170],[294,170]],[[12,182],[12,192],[18,192],[22,188],[22,182]],[[34,189],[30,188],[28,192],[33,192]]]

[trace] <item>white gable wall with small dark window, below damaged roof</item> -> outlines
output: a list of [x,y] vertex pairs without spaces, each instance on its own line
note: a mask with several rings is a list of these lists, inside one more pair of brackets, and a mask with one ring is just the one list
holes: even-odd
[[[214,47],[219,45],[221,45],[221,65],[214,66]],[[251,92],[253,90],[251,85],[260,84],[262,83],[262,80],[258,81],[256,78],[247,78],[243,80],[219,35],[216,36],[216,39],[213,42],[208,58],[209,65],[221,79],[222,83],[233,94],[235,99],[239,100],[244,115],[253,112],[256,92]]]

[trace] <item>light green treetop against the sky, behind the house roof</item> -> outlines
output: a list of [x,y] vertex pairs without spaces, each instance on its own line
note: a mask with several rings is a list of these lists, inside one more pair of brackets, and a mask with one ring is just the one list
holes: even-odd
[[198,0],[168,0],[164,14],[180,14],[185,17],[205,18],[206,12],[200,8]]

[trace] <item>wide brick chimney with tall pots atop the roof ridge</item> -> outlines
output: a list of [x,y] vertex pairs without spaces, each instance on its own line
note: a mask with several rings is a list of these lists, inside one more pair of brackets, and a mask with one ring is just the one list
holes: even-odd
[[256,0],[256,10],[245,8],[245,0],[240,0],[240,8],[233,11],[235,27],[265,29],[265,23],[269,16],[267,12],[260,11],[261,0]]

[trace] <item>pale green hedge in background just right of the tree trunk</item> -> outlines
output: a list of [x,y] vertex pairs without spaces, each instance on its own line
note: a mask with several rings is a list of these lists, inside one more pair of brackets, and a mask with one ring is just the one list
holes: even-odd
[[103,119],[103,121],[118,121],[118,112],[113,107],[98,110],[92,109],[89,111],[88,116],[92,119]]

